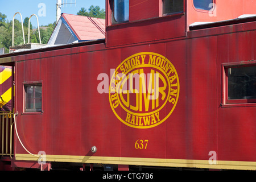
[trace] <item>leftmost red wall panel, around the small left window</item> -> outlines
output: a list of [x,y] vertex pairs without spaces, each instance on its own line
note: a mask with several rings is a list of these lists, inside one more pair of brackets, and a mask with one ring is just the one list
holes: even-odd
[[[18,111],[19,116],[16,120],[18,135],[20,139],[23,141],[24,146],[26,146],[28,151],[31,151],[34,154],[37,154],[40,150],[38,148],[42,148],[43,140],[44,140],[44,121],[45,115],[38,114],[27,114],[23,113],[23,83],[31,82],[31,81],[40,81],[41,77],[41,68],[42,64],[40,64],[39,60],[33,61],[21,61],[15,64],[16,70],[19,70],[16,73],[16,85],[15,85],[15,99],[16,99],[16,109]],[[32,68],[32,69],[31,69]],[[23,147],[20,146],[18,140],[16,141],[17,153],[26,152]]]

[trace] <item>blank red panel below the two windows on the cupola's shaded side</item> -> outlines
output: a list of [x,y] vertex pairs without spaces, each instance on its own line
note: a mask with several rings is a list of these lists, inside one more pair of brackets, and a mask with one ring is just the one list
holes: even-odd
[[178,38],[185,35],[185,15],[171,15],[106,27],[106,46]]

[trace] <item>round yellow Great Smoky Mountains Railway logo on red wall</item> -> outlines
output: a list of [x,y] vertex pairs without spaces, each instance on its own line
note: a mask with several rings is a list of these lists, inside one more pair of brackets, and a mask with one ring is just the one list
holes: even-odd
[[109,86],[109,102],[125,125],[147,129],[166,121],[179,98],[174,65],[164,56],[140,52],[122,61]]

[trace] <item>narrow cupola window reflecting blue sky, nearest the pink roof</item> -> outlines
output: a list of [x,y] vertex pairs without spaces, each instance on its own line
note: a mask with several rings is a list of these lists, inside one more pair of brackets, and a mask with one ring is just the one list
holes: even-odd
[[112,3],[112,23],[129,21],[129,0],[113,0]]

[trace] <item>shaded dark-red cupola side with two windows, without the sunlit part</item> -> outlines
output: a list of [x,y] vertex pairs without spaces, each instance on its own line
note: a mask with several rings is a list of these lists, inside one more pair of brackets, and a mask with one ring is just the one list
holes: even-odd
[[185,36],[183,0],[106,0],[106,46]]

